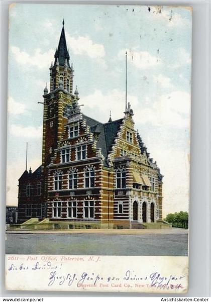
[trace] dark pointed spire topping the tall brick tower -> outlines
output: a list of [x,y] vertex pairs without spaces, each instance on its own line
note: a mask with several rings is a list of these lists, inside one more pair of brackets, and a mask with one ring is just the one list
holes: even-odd
[[57,62],[57,59],[58,59],[59,65],[64,66],[65,59],[67,59],[67,64],[70,67],[70,65],[69,65],[70,56],[69,56],[69,53],[67,50],[67,43],[66,43],[65,32],[64,32],[64,19],[63,19],[62,24],[63,24],[63,26],[62,26],[61,36],[60,36],[60,40],[59,40],[59,45],[58,45],[58,48],[54,55],[55,63]]

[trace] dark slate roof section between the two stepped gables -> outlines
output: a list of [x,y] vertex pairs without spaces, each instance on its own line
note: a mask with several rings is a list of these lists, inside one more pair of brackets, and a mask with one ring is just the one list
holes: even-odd
[[104,164],[107,165],[107,156],[112,150],[112,145],[114,144],[114,140],[117,137],[118,131],[120,130],[120,125],[122,124],[123,119],[102,124],[85,115],[83,115],[83,118],[84,120],[86,120],[87,125],[90,127],[90,131],[93,134],[98,135],[96,147],[101,148],[102,154],[105,157]]

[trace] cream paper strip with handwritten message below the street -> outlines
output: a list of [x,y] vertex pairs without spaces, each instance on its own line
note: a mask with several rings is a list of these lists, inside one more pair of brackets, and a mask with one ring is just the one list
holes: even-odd
[[188,257],[6,255],[8,290],[185,293]]

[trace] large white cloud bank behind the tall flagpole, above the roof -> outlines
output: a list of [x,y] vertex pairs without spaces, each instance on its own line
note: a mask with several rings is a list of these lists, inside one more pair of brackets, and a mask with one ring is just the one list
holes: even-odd
[[[103,94],[101,90],[81,96],[81,104],[84,105],[84,113],[96,118],[100,122],[107,122],[110,110],[112,119],[120,119],[124,116],[125,92],[117,89]],[[184,91],[173,91],[162,94],[152,102],[140,102],[136,95],[128,95],[128,102],[134,110],[134,120],[139,124],[150,124],[154,126],[175,126],[176,128],[189,127],[190,95]],[[143,102],[141,102],[143,103]]]

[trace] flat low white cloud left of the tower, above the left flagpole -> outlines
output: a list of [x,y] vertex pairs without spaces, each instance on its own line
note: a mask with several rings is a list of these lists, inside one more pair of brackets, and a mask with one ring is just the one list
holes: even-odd
[[10,133],[14,136],[18,137],[34,137],[34,138],[41,138],[42,137],[42,127],[33,127],[28,126],[24,127],[22,125],[14,125],[10,126]]

